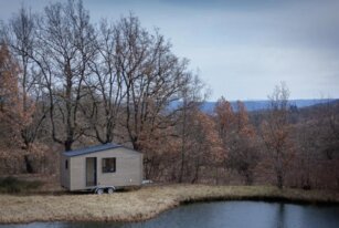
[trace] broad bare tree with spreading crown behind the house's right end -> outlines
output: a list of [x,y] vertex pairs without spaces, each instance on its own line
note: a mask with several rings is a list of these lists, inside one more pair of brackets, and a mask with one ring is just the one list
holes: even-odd
[[190,83],[188,61],[178,59],[156,30],[149,33],[138,18],[123,18],[115,27],[116,73],[121,76],[126,116],[124,126],[135,149],[142,137],[173,125],[181,89]]

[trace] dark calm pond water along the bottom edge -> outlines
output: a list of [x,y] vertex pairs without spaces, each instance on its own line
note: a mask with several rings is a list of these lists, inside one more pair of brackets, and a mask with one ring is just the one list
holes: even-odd
[[144,222],[33,222],[7,228],[338,228],[339,206],[263,201],[216,201],[180,206]]

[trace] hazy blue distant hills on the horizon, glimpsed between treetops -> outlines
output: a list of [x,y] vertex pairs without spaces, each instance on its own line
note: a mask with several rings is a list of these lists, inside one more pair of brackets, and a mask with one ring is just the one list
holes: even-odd
[[[332,102],[336,100],[328,100],[328,99],[322,99],[322,100],[290,100],[289,104],[292,106],[297,106],[298,108],[300,107],[307,107],[307,106],[312,106],[316,104],[324,104],[327,102]],[[242,101],[245,104],[245,107],[247,108],[248,112],[253,111],[259,111],[259,110],[266,110],[269,105],[269,101]],[[214,110],[216,102],[204,102],[202,104],[202,111],[206,113],[212,113]],[[236,110],[236,102],[231,102],[231,105],[233,106],[234,110]]]

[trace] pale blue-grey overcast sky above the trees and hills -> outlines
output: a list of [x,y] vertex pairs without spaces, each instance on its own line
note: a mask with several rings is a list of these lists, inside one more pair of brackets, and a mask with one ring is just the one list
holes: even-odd
[[[22,3],[0,0],[6,21]],[[190,60],[210,100],[267,99],[285,81],[292,99],[339,97],[339,0],[84,0],[92,20],[134,12]]]

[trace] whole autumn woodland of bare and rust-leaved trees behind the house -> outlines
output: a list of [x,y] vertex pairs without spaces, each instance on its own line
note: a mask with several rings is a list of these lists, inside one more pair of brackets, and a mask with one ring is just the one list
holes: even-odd
[[64,151],[116,143],[155,182],[339,189],[336,100],[298,108],[282,82],[266,110],[220,97],[203,112],[208,86],[158,29],[93,23],[82,1],[0,25],[1,176],[59,174]]

